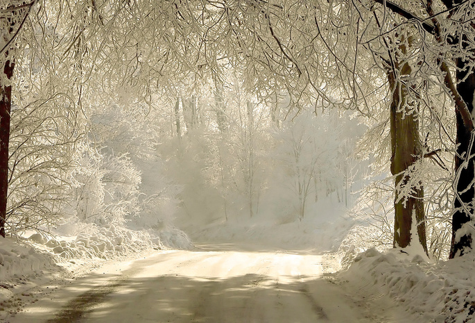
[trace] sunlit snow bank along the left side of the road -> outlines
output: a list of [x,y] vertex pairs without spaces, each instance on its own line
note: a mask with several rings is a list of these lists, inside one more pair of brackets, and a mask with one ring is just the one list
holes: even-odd
[[71,235],[67,228],[59,228],[56,233],[62,235],[29,233],[1,239],[0,321],[21,311],[24,304],[35,303],[35,295],[44,295],[37,291],[40,285],[58,284],[106,261],[137,258],[144,251],[192,246],[188,236],[173,227],[157,232],[85,224],[76,231]]

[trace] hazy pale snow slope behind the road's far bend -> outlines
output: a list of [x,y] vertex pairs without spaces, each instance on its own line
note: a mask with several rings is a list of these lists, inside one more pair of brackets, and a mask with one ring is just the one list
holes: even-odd
[[[306,250],[322,254],[337,251],[342,240],[361,220],[348,214],[344,204],[331,199],[321,199],[312,204],[306,217],[275,217],[270,215],[243,215],[211,223],[187,222],[178,218],[178,225],[184,229],[193,242],[238,242],[241,245],[255,245],[280,250]],[[199,217],[198,217],[199,218]]]

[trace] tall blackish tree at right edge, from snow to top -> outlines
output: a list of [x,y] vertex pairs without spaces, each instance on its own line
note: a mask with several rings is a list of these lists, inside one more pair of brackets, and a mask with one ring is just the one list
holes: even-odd
[[[455,47],[456,51],[460,51],[455,59],[457,85],[454,99],[456,101],[457,151],[454,215],[452,216],[449,255],[450,258],[454,258],[466,254],[474,247],[472,235],[475,225],[475,138],[472,116],[475,98],[475,43],[473,42],[475,26],[465,23],[467,19],[470,19],[469,17],[474,17],[474,10],[469,7],[467,1],[443,0],[442,2],[449,10],[449,17],[443,27],[439,18],[435,17],[432,8],[433,1],[427,3],[428,12],[433,16],[436,27],[436,38],[441,45],[447,42],[451,47]],[[461,6],[462,4],[464,6]]]

